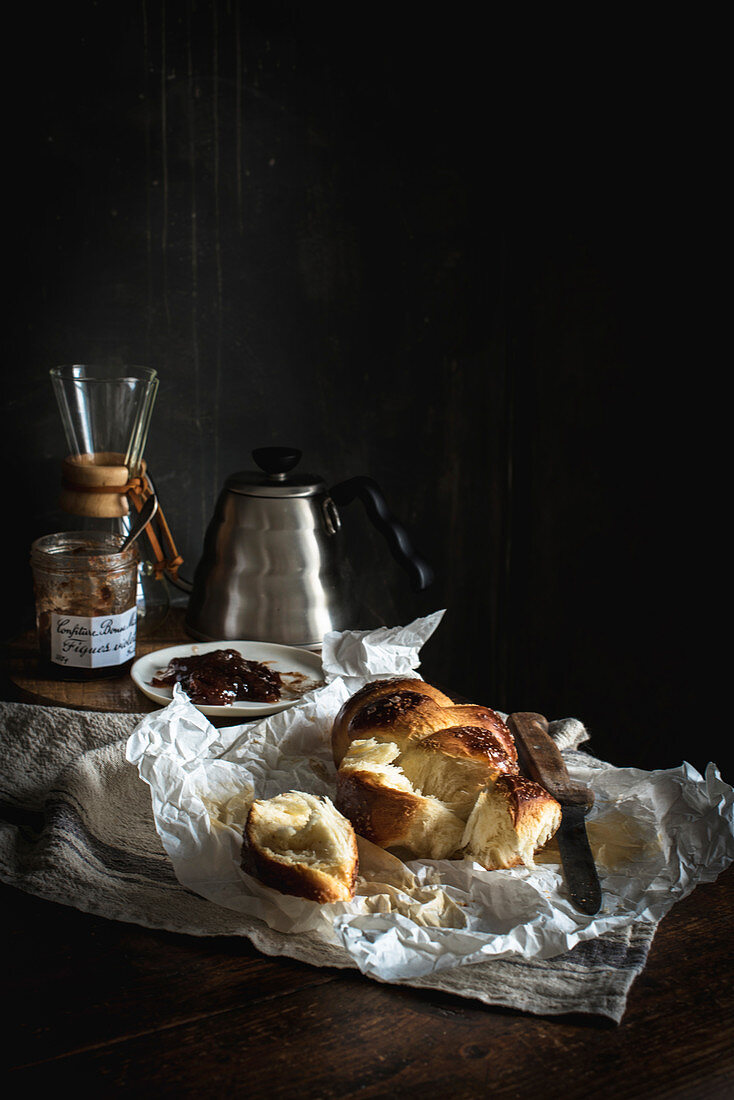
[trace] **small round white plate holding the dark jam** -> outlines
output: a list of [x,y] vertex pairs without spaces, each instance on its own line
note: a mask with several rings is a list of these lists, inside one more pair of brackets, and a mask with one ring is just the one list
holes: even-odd
[[153,653],[139,657],[130,669],[133,682],[144,695],[162,706],[173,698],[171,688],[155,688],[152,680],[174,657],[191,657],[209,653],[212,649],[235,649],[247,661],[259,661],[280,672],[284,690],[277,703],[228,703],[226,706],[194,705],[210,718],[255,718],[263,714],[275,714],[293,706],[306,691],[316,688],[324,680],[321,658],[309,649],[295,646],[276,646],[269,641],[195,641],[186,646],[169,646]]

